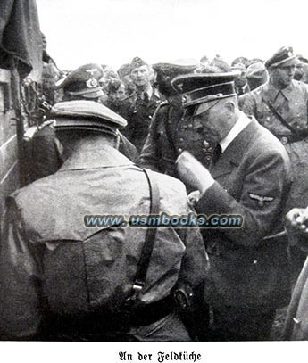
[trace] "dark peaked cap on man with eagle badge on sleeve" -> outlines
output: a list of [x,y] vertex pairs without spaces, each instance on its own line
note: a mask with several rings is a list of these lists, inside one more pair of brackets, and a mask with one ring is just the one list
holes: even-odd
[[237,71],[187,74],[174,78],[172,87],[184,94],[184,107],[209,103],[210,108],[212,101],[237,95],[234,87],[237,77]]

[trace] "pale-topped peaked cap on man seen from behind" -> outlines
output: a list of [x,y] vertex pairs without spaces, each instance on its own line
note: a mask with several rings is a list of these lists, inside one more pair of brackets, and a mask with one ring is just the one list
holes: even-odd
[[127,121],[101,103],[79,100],[55,103],[52,108],[56,129],[88,129],[117,135]]

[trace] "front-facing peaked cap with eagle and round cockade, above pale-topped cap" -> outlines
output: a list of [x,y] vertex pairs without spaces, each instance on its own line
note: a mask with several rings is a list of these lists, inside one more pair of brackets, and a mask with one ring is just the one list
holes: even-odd
[[64,94],[82,95],[85,98],[97,98],[104,95],[102,87],[99,86],[99,79],[104,75],[103,69],[99,64],[88,63],[82,65],[77,70],[71,71],[66,77],[60,79],[56,88],[62,88]]

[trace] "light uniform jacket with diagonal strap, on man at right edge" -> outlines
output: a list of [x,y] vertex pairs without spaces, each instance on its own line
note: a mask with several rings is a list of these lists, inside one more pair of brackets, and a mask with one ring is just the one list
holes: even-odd
[[[287,128],[268,104],[290,125]],[[303,82],[293,80],[284,89],[266,84],[254,91],[241,95],[238,102],[246,115],[253,115],[262,126],[279,138],[286,147],[291,160],[294,183],[287,200],[287,210],[305,208],[308,203],[308,87]],[[298,139],[298,141],[296,140]]]

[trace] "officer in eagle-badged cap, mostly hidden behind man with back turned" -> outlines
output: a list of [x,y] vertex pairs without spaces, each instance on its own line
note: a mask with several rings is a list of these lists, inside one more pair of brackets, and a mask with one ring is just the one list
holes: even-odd
[[[90,100],[99,102],[104,95],[98,81],[103,77],[99,64],[87,63],[71,71],[56,83],[56,89],[62,90],[63,101]],[[119,150],[132,161],[138,161],[136,147],[121,135]],[[38,127],[32,140],[33,180],[53,174],[62,165],[61,144],[55,137],[54,120],[46,120]]]

